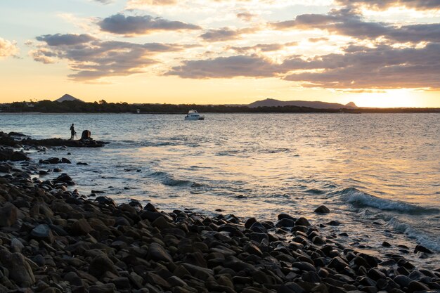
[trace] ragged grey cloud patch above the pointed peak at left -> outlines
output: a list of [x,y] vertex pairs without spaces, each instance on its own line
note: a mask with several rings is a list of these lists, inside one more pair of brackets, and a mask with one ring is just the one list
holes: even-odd
[[[31,52],[35,61],[56,63],[67,60],[75,73],[71,79],[90,81],[102,77],[127,76],[145,72],[145,67],[158,63],[153,59],[157,53],[183,51],[187,45],[147,43],[135,44],[126,41],[102,41],[89,38],[83,42],[58,40],[80,39],[79,34],[53,34],[37,37],[39,44]],[[57,41],[54,41],[57,40]]]

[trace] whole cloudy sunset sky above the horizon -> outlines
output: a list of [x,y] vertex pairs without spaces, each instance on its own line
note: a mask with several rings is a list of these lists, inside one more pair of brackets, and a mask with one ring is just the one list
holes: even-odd
[[1,0],[0,103],[440,108],[440,0]]

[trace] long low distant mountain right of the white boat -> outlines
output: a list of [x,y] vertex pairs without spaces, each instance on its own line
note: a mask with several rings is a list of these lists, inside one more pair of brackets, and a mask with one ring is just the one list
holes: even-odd
[[257,102],[250,103],[247,105],[250,108],[257,107],[283,107],[283,106],[297,106],[297,107],[307,107],[315,109],[341,109],[341,108],[358,108],[355,103],[350,102],[347,105],[342,105],[338,103],[325,103],[318,101],[308,101],[308,100],[275,100],[273,98],[266,98],[266,100],[257,100]]

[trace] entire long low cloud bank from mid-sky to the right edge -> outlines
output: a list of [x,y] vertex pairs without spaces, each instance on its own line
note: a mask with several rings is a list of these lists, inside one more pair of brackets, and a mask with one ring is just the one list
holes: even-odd
[[291,56],[273,63],[261,56],[191,60],[167,74],[183,78],[280,77],[327,89],[440,89],[440,44],[424,48],[349,46],[342,54],[306,59]]

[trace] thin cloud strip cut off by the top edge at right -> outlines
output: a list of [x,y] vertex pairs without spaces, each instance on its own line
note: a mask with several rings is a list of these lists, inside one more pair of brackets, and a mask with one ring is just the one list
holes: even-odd
[[390,7],[406,7],[417,10],[439,10],[440,0],[336,0],[344,6],[366,6],[375,10],[386,10]]

